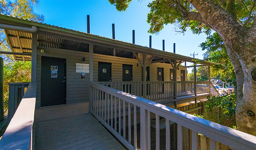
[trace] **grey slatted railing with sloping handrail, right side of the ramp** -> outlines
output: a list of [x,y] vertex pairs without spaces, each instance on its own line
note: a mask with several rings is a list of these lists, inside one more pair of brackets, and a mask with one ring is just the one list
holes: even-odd
[[[219,141],[225,145],[228,145],[235,149],[255,149],[256,148],[256,137],[249,135],[247,133],[243,133],[238,130],[234,130],[231,128],[228,128],[226,126],[187,114],[185,112],[167,107],[165,105],[161,105],[159,103],[128,94],[107,86],[103,86],[99,83],[90,82],[90,88],[91,88],[91,99],[90,103],[90,112],[102,123],[104,124],[110,132],[112,132],[127,148],[129,149],[136,149],[136,143],[135,147],[131,145],[131,105],[134,105],[134,108],[139,107],[140,108],[140,115],[141,115],[141,149],[147,149],[147,135],[149,134],[147,132],[147,127],[150,125],[147,121],[147,118],[150,118],[147,116],[147,114],[150,114],[150,112],[156,114],[156,122],[159,122],[159,116],[166,118],[166,124],[169,120],[177,123],[178,126],[178,149],[182,149],[182,126],[189,128],[192,130],[192,141],[197,141],[197,133],[203,134],[210,138],[210,147],[216,146],[216,141]],[[102,100],[99,99],[99,94],[101,92],[105,92],[105,97],[102,98]],[[109,103],[110,100],[110,103]],[[114,102],[112,101],[114,100]],[[114,126],[109,125],[109,110],[111,110],[111,115],[114,113],[114,119],[116,122],[116,116],[117,111],[119,115],[121,114],[121,105],[120,102],[124,101],[125,103],[128,103],[128,120],[130,120],[129,123],[129,140],[126,140],[122,137],[121,131],[117,131],[116,124]],[[112,103],[113,102],[113,103]],[[110,106],[111,109],[106,109],[106,106],[109,108],[109,104],[113,104]],[[105,106],[104,106],[105,105]],[[125,106],[127,106],[125,104]],[[113,108],[114,107],[114,108]],[[117,108],[116,108],[117,107]],[[105,109],[104,109],[105,108]],[[101,109],[101,110],[100,110]],[[106,111],[107,110],[107,111]],[[113,112],[113,110],[115,110]],[[136,110],[136,109],[135,109]],[[106,113],[107,112],[107,113]],[[136,112],[136,111],[135,111]],[[123,116],[126,116],[125,111],[123,111]],[[108,117],[106,118],[106,115]],[[112,116],[111,116],[112,117]],[[120,119],[120,117],[118,118]],[[136,120],[136,117],[135,117]],[[125,119],[124,125],[125,125]],[[121,122],[119,120],[119,122]],[[112,120],[111,120],[112,123]],[[169,125],[169,124],[168,124]],[[156,130],[159,132],[159,123],[156,124],[157,128]],[[125,127],[125,126],[124,126]],[[143,129],[143,130],[142,130]],[[124,129],[125,130],[125,129]],[[166,130],[169,130],[170,135],[170,129],[166,128]],[[156,133],[156,145],[159,146],[159,133]],[[149,135],[150,136],[150,135]],[[125,137],[125,136],[124,136]],[[168,137],[168,136],[167,136]],[[150,139],[150,138],[149,138]],[[170,140],[170,139],[169,139]],[[170,143],[168,140],[166,140],[166,146],[169,147]],[[169,145],[169,146],[168,146]],[[149,146],[149,145],[148,145]],[[197,147],[197,143],[192,142],[192,149],[193,147]],[[149,148],[149,147],[148,147]]]

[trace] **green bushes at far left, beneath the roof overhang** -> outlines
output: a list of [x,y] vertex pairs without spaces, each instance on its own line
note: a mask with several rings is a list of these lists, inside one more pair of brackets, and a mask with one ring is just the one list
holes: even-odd
[[17,61],[13,65],[4,65],[4,107],[5,112],[8,108],[8,83],[30,82],[31,80],[31,62]]

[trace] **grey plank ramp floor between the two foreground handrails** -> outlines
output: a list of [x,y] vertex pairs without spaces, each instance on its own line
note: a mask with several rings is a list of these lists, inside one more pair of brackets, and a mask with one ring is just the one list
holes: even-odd
[[35,149],[124,149],[91,115],[36,123]]

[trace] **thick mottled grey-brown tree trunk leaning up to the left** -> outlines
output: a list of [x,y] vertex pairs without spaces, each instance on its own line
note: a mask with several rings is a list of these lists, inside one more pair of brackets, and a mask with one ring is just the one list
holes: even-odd
[[[230,13],[211,0],[190,2],[200,13],[201,20],[215,30],[226,44],[237,75],[237,127],[240,131],[256,136],[254,127],[256,125],[256,21],[254,26],[248,29],[241,26]],[[240,65],[237,59],[240,60]],[[243,92],[241,92],[242,81]]]

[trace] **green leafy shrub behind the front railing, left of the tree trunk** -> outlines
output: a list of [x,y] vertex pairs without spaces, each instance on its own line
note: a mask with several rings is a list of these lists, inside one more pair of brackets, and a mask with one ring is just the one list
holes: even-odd
[[205,119],[230,128],[236,127],[236,95],[233,93],[223,97],[207,98]]

